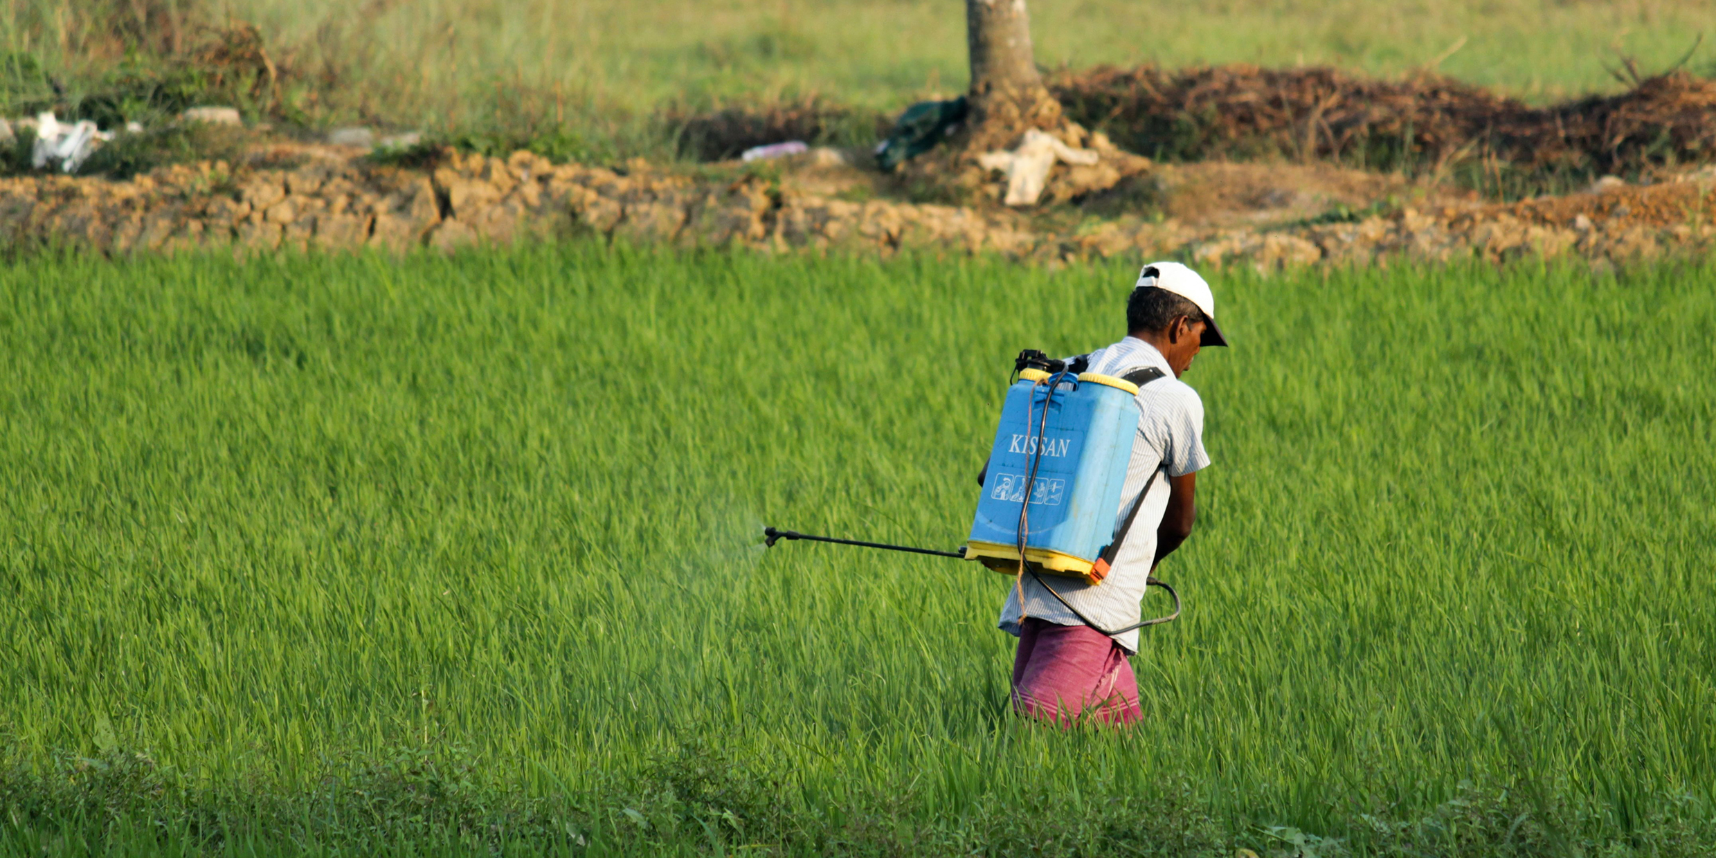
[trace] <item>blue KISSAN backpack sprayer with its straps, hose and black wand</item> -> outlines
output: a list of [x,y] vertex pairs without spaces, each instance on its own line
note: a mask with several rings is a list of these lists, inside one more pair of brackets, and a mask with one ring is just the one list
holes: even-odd
[[1114,517],[1138,434],[1133,396],[1141,384],[1162,378],[1162,371],[1145,367],[1124,376],[1103,376],[1085,372],[1083,359],[1071,364],[1050,360],[1035,348],[1019,352],[1012,369],[1016,381],[1007,388],[995,443],[983,467],[983,494],[976,501],[971,537],[958,551],[819,537],[774,527],[764,529],[764,544],[772,547],[781,539],[803,539],[975,559],[1004,575],[1030,575],[1079,621],[1103,635],[1179,618],[1179,594],[1157,578],[1146,578],[1146,587],[1167,590],[1174,613],[1114,630],[1093,623],[1042,578],[1052,575],[1098,585],[1109,577],[1114,556],[1160,474],[1157,468],[1150,475],[1115,529]]

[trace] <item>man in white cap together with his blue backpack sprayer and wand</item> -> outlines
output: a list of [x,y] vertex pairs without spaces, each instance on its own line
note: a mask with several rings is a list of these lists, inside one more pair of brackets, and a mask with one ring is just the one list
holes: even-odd
[[[1066,360],[1019,352],[959,551],[774,527],[765,542],[937,554],[1014,575],[1000,611],[1000,628],[1019,638],[1014,710],[1054,722],[1138,721],[1127,664],[1138,630],[1179,616],[1179,595],[1150,573],[1191,535],[1196,472],[1210,463],[1203,402],[1179,378],[1205,345],[1227,338],[1210,285],[1179,263],[1139,271],[1126,329],[1121,341]],[[1139,619],[1151,585],[1169,592],[1174,613]]]

